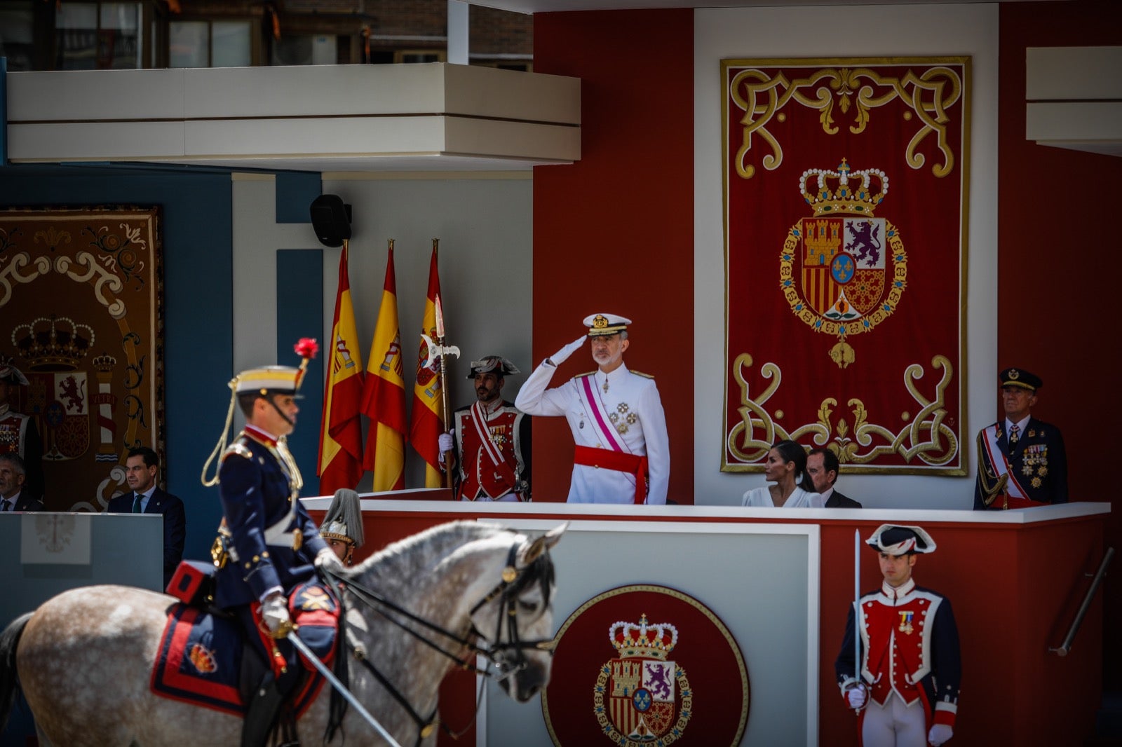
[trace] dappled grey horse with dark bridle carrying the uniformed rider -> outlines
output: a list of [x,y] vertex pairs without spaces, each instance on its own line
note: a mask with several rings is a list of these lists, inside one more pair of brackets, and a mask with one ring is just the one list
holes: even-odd
[[[472,522],[444,524],[389,545],[341,577],[347,631],[339,640],[350,644],[351,691],[403,747],[435,744],[438,730],[427,729],[421,738],[423,725],[406,706],[424,719],[434,714],[440,681],[456,664],[403,626],[421,628],[430,642],[467,658],[477,643],[498,665],[504,689],[519,701],[545,686],[550,646],[535,643],[553,633],[548,551],[563,529],[530,540]],[[371,610],[356,598],[359,587],[404,612]],[[162,698],[148,686],[173,601],[130,587],[85,587],[13,621],[0,634],[0,729],[22,688],[44,746],[238,745],[239,717]],[[399,698],[377,682],[355,651]],[[297,723],[304,745],[323,741],[330,692],[324,683]],[[385,744],[353,708],[347,709],[342,734],[348,746]],[[337,734],[332,744],[343,744],[342,737]]]

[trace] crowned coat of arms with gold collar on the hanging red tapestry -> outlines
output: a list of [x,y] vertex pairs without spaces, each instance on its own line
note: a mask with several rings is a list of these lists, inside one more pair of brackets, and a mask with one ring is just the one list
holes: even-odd
[[829,356],[839,368],[856,354],[846,338],[872,331],[895,311],[907,287],[908,255],[900,232],[875,218],[889,193],[877,168],[802,173],[799,191],[813,211],[788,232],[780,288],[795,316],[816,332],[837,335]]

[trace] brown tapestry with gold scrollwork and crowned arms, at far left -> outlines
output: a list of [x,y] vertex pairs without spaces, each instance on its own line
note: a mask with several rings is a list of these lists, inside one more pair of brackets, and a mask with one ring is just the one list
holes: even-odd
[[129,490],[132,446],[164,461],[158,215],[0,210],[0,363],[21,375],[0,408],[29,418],[34,443],[8,445],[25,457],[26,485],[47,510],[103,510]]

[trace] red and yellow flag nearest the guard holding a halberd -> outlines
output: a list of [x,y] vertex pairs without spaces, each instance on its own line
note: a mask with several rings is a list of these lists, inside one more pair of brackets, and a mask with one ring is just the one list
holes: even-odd
[[[440,295],[440,276],[436,274],[436,246],[433,242],[432,262],[429,265],[429,294],[424,302],[424,320],[421,333],[436,341],[436,297]],[[417,380],[413,385],[413,418],[410,423],[410,441],[413,449],[425,461],[424,486],[441,488],[444,486],[443,473],[440,471],[440,446],[438,440],[444,430],[444,406],[441,402],[440,359],[434,359],[425,366],[429,349],[422,338],[417,352]]]

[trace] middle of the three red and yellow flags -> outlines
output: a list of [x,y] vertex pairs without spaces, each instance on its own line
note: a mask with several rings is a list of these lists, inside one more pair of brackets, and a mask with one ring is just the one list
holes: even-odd
[[402,332],[397,322],[397,280],[394,241],[389,241],[381,307],[370,343],[370,361],[362,387],[362,412],[370,418],[362,468],[374,472],[374,490],[405,488],[405,366]]

